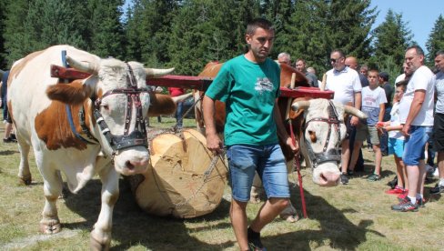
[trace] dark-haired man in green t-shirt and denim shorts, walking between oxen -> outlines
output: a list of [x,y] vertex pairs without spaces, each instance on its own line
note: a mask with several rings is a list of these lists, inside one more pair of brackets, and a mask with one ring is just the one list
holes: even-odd
[[[223,146],[215,126],[215,101],[226,103],[224,137],[232,188],[230,219],[241,250],[265,250],[260,231],[289,203],[287,166],[278,136],[295,153],[298,151],[280,119],[276,102],[280,69],[268,58],[274,35],[266,19],[249,22],[248,52],[222,66],[203,100],[207,147],[216,153]],[[246,208],[256,172],[267,201],[247,227]]]

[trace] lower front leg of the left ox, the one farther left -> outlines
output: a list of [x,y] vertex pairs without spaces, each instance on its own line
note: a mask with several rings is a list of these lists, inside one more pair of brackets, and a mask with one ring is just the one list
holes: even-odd
[[[45,168],[40,168],[40,170],[45,170]],[[45,234],[55,234],[61,230],[55,203],[62,192],[62,179],[59,171],[56,170],[42,172],[42,176],[44,177],[45,207],[40,221],[40,231]]]

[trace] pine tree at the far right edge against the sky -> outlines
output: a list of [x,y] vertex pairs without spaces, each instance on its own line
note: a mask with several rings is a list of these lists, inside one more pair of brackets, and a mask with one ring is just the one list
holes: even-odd
[[435,60],[435,55],[439,50],[444,50],[444,18],[439,15],[433,29],[430,32],[429,39],[426,43],[427,50],[429,54],[427,59],[429,65],[433,65]]

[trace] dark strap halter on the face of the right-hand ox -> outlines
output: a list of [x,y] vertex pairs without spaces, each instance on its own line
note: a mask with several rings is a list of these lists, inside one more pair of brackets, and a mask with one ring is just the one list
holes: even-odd
[[[344,121],[339,120],[338,112],[336,110],[335,105],[331,102],[331,100],[328,100],[328,118],[325,117],[314,117],[306,122],[304,131],[307,129],[308,124],[313,121],[319,121],[319,122],[325,122],[328,124],[328,134],[326,143],[324,144],[324,148],[322,149],[321,153],[315,153],[313,151],[313,148],[308,143],[308,140],[306,139],[306,146],[308,150],[308,156],[310,157],[311,162],[313,163],[313,168],[318,167],[318,165],[328,162],[328,161],[336,161],[338,164],[340,163],[341,157],[339,152],[339,140],[340,140],[340,127],[339,125],[341,123],[344,123]],[[330,135],[331,135],[331,127],[335,127],[335,132],[338,134],[338,143],[335,145],[334,149],[330,149],[328,152],[328,143],[330,142]]]

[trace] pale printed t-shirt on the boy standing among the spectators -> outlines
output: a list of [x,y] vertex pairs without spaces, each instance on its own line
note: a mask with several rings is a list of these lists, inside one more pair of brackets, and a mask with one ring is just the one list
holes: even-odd
[[381,87],[370,89],[370,86],[362,88],[362,105],[361,111],[365,113],[368,126],[375,126],[379,118],[379,105],[387,103],[386,92]]

